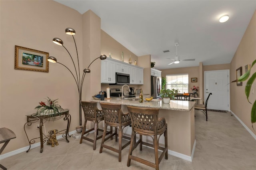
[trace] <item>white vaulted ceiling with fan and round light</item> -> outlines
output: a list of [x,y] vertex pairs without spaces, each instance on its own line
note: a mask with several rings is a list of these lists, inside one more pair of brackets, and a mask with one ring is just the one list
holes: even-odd
[[[256,0],[55,1],[81,14],[92,10],[102,30],[135,55],[150,54],[156,69],[230,63],[256,9]],[[224,14],[230,18],[220,23]],[[168,65],[176,42],[180,59],[196,60]]]

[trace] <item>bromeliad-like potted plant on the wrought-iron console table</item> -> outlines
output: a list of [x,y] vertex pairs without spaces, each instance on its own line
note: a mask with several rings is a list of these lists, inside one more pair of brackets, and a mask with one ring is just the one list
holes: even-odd
[[60,116],[63,109],[60,105],[57,104],[58,99],[52,100],[47,97],[46,100],[46,102],[39,102],[40,105],[35,108],[37,109],[37,115],[49,115],[49,117],[53,117],[53,119],[58,115]]

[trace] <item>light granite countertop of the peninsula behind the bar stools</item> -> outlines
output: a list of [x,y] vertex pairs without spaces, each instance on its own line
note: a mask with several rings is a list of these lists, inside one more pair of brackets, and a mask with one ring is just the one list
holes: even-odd
[[138,106],[138,107],[150,107],[157,109],[167,109],[167,110],[176,110],[176,111],[191,111],[194,107],[194,101],[179,101],[179,100],[171,100],[170,103],[163,103],[160,99],[153,99],[152,101],[144,101],[140,103],[138,100],[121,100],[118,97],[112,97],[111,99],[102,100],[92,100],[100,103],[114,103],[114,104],[122,104],[128,106]]

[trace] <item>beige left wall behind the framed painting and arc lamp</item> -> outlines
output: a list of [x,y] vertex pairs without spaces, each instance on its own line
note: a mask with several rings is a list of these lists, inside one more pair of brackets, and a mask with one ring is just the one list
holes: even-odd
[[[75,130],[75,127],[79,125],[78,89],[68,70],[57,63],[49,63],[48,73],[14,69],[14,46],[19,45],[48,52],[50,56],[56,57],[58,62],[74,71],[67,51],[63,47],[52,43],[52,38],[62,39],[65,47],[76,61],[73,38],[65,34],[65,29],[71,27],[76,30],[74,38],[82,69],[88,67],[92,58],[96,58],[100,54],[100,44],[96,47],[98,51],[96,50],[94,54],[90,53],[89,50],[86,55],[83,55],[82,49],[85,43],[83,43],[84,28],[82,23],[87,20],[84,16],[86,14],[81,15],[67,6],[54,1],[23,0],[0,1],[0,3],[0,127],[10,128],[17,136],[7,145],[4,154],[28,146],[28,140],[23,129],[26,123],[26,115],[35,113],[34,108],[40,101],[45,101],[46,97],[58,99],[58,104],[63,108],[70,109],[72,117],[70,131]],[[94,28],[93,25],[95,24],[91,23],[90,30]],[[100,26],[98,28],[98,34],[100,34]],[[97,36],[96,34],[90,36]],[[88,58],[89,55],[90,58]],[[100,67],[99,63],[98,67]],[[96,64],[94,63],[93,67]],[[90,68],[92,71],[90,74],[92,74],[94,69]],[[80,71],[82,73],[82,70]],[[97,74],[96,71],[95,74]],[[100,71],[98,74],[100,74]],[[88,82],[87,76],[85,83]],[[95,88],[100,89],[100,85]],[[85,94],[90,93],[93,93],[93,91],[84,88],[83,98],[85,98]],[[30,139],[39,136],[36,124],[34,123],[26,128]],[[52,128],[61,130],[66,128],[66,122],[62,119],[54,121],[54,123],[46,122],[45,127],[46,133]],[[36,140],[36,142],[39,142],[39,140]]]

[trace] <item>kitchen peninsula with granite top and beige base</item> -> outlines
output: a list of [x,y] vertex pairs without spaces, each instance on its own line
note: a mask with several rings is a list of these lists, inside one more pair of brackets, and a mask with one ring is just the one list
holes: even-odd
[[[138,100],[120,100],[117,97],[105,99],[104,101],[93,100],[98,103],[121,104],[122,111],[128,112],[126,106],[149,107],[159,109],[159,117],[164,117],[168,124],[168,154],[192,162],[195,140],[195,123],[194,123],[194,105],[192,101],[171,100],[169,104],[163,103],[162,100],[153,99],[139,103]],[[127,134],[131,134],[128,133]],[[151,139],[147,138],[146,140]],[[164,144],[163,136],[160,137],[160,145]],[[143,138],[144,140],[144,138]],[[150,140],[152,142],[152,139]]]

